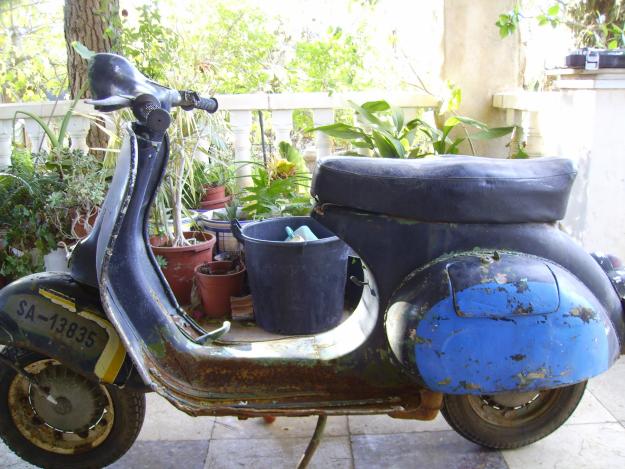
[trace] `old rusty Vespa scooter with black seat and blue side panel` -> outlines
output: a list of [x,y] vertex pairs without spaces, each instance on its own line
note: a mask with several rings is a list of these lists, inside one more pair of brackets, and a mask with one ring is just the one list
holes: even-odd
[[169,156],[174,91],[112,54],[90,61],[93,104],[132,109],[111,188],[71,273],[0,292],[0,435],[44,467],[101,467],[132,445],[143,393],[190,415],[433,419],[516,448],[562,425],[586,381],[625,351],[625,272],[556,226],[575,172],[562,158],[328,158],[313,216],[366,265],[359,305],[327,332],[274,340],[206,331],[151,252],[148,212]]

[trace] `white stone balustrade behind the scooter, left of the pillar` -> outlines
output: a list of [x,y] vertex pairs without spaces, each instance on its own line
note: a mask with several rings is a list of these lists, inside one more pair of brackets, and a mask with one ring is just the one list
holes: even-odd
[[[378,99],[384,99],[403,108],[407,118],[416,116],[420,109],[427,111],[439,105],[437,99],[426,94],[387,91],[337,93],[333,95],[327,93],[258,93],[217,96],[220,110],[230,114],[235,159],[239,162],[251,159],[253,114],[258,110],[270,113],[267,117],[271,120],[275,143],[278,143],[291,140],[293,111],[295,110],[311,110],[314,125],[320,126],[333,123],[334,111],[347,108],[348,100],[361,104]],[[16,111],[34,113],[44,121],[51,122],[58,129],[59,123],[70,105],[69,101],[0,104],[0,168],[5,168],[10,163],[14,135],[17,141],[29,141],[33,149],[46,148],[46,136],[43,129],[33,119],[18,114],[18,123],[21,126],[14,129],[13,118]],[[86,116],[90,113],[93,113],[92,106],[84,102],[78,104],[76,115],[71,118],[67,129],[72,148],[87,149],[86,138],[89,130],[89,118]],[[317,132],[315,148],[313,151],[306,152],[307,162],[312,165],[316,156],[328,155],[330,152],[330,140],[325,134]],[[249,166],[238,165],[238,167],[240,168],[239,176],[249,175]]]

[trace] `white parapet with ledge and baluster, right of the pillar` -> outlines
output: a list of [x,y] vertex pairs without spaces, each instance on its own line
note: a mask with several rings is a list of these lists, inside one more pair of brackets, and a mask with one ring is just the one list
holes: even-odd
[[577,177],[565,229],[588,250],[625,258],[625,70],[559,70],[553,91],[493,96],[510,125],[521,125],[530,156],[563,156]]

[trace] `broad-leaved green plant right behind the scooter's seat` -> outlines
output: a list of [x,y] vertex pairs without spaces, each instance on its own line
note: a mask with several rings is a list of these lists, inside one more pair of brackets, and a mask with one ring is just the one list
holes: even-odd
[[[489,128],[483,122],[463,116],[451,116],[440,128],[422,118],[407,121],[404,112],[386,101],[369,101],[359,106],[350,101],[362,126],[335,123],[310,130],[347,140],[381,158],[422,158],[432,154],[457,154],[469,139],[493,139],[510,134],[514,127]],[[462,132],[453,131],[458,127]],[[468,134],[466,128],[476,129]],[[359,153],[349,152],[351,155]]]

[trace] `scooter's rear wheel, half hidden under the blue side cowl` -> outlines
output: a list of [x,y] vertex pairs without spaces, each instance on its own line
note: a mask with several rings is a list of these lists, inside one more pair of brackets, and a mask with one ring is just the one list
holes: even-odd
[[558,429],[577,408],[586,382],[524,393],[446,395],[441,413],[447,423],[478,445],[512,449]]

